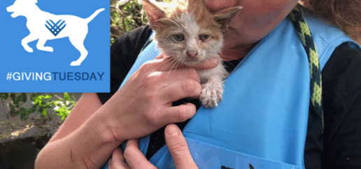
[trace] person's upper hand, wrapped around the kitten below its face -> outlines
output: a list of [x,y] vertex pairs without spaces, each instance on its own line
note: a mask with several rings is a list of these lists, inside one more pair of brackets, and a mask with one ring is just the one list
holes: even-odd
[[[214,59],[195,67],[213,68],[218,65]],[[106,122],[106,130],[110,133],[108,141],[120,143],[141,138],[167,124],[193,117],[196,108],[192,103],[178,106],[172,103],[181,98],[199,98],[201,80],[194,68],[174,67],[171,59],[162,54],[146,62],[100,108],[102,117],[99,120]]]

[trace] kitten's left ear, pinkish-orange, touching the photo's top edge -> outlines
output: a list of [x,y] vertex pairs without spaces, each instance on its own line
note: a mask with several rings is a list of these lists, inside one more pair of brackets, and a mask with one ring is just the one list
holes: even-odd
[[158,20],[164,18],[166,16],[164,10],[157,6],[153,1],[142,0],[143,8],[146,10],[146,13],[149,18],[150,27],[156,29],[160,24]]

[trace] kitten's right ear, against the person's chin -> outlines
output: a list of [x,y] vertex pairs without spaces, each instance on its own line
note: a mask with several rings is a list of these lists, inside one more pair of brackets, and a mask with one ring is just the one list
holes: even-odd
[[241,9],[241,6],[225,8],[212,16],[213,20],[220,24],[222,33],[225,33],[228,30],[229,24],[232,23],[233,18],[239,13],[239,11],[241,11]]

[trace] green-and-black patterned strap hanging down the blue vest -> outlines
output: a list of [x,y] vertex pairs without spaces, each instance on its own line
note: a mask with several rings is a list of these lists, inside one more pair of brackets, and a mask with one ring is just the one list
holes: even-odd
[[311,76],[311,104],[310,108],[315,110],[318,115],[322,118],[322,133],[325,128],[325,122],[323,119],[323,100],[322,100],[322,77],[320,71],[320,62],[318,58],[318,52],[316,50],[316,45],[313,42],[313,37],[311,35],[311,31],[309,29],[309,25],[304,20],[302,10],[296,6],[292,12],[290,13],[290,18],[292,20],[292,24],[295,27],[295,30],[299,34],[299,38],[301,38],[302,44],[304,45],[304,49],[306,50],[307,56],[309,58],[309,66],[310,66],[310,76]]

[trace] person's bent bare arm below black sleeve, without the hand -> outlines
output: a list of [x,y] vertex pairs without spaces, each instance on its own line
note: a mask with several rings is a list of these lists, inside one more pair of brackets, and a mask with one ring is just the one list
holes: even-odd
[[111,131],[103,125],[105,119],[97,120],[99,113],[95,112],[100,107],[97,94],[83,94],[59,131],[38,154],[35,168],[99,168],[122,142],[111,139]]

